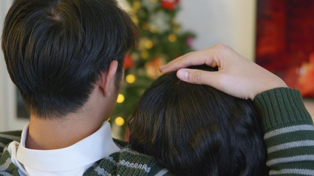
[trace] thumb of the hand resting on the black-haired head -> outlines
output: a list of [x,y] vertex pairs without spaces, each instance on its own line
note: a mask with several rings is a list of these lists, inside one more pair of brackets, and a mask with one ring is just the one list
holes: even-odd
[[204,71],[197,69],[183,68],[178,70],[177,77],[183,81],[195,84],[205,84],[213,87],[218,87],[219,73],[217,71]]

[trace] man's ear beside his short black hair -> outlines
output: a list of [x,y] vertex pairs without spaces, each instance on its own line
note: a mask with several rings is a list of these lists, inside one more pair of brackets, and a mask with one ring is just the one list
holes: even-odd
[[99,80],[99,86],[102,89],[103,96],[110,97],[114,90],[111,90],[112,84],[115,84],[115,75],[118,68],[118,61],[113,60],[107,71],[103,72],[101,74],[100,80]]

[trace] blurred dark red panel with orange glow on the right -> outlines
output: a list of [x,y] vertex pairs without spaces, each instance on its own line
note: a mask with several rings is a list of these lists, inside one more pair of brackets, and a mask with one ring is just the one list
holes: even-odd
[[314,1],[258,0],[256,62],[314,98]]

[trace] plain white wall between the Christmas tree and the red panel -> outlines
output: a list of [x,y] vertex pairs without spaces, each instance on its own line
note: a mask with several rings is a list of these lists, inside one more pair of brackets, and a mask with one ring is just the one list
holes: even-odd
[[177,16],[197,35],[194,48],[223,43],[254,59],[256,0],[182,0]]

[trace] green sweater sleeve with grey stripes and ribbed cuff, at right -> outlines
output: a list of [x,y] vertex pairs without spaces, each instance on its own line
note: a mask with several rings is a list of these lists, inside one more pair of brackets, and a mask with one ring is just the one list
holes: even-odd
[[278,88],[255,97],[261,111],[270,175],[314,175],[314,126],[297,90]]

